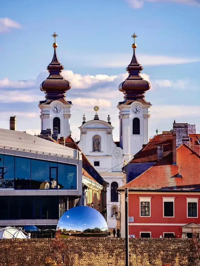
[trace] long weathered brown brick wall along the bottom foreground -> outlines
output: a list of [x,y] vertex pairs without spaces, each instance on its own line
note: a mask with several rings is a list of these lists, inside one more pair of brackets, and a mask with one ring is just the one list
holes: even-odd
[[[0,265],[43,266],[54,239],[2,239]],[[66,266],[125,265],[125,239],[64,239]],[[130,239],[130,266],[187,266],[190,239]]]

